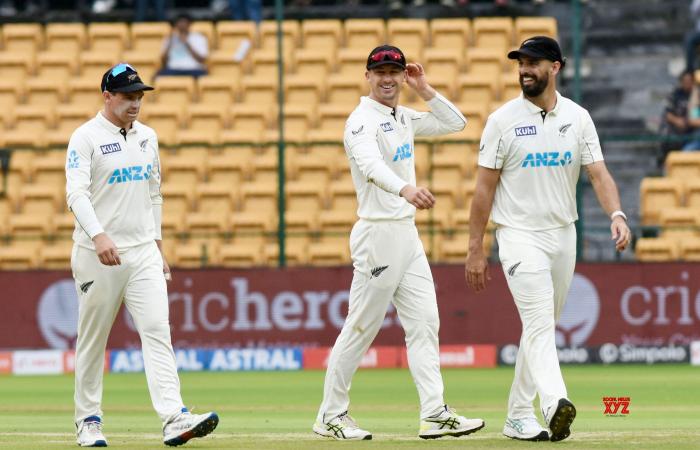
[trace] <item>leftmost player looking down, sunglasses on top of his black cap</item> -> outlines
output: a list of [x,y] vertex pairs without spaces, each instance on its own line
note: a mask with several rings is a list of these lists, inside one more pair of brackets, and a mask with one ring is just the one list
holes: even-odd
[[141,337],[153,407],[166,445],[211,433],[216,413],[191,414],[180,397],[170,343],[161,254],[158,137],[136,120],[146,86],[128,64],[102,77],[104,109],[75,130],[68,144],[66,194],[75,215],[71,267],[78,292],[75,424],[78,445],[106,447],[102,375],[109,331],[122,303]]

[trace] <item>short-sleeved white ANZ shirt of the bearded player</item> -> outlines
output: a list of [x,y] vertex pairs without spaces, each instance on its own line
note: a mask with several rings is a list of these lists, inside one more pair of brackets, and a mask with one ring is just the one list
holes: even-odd
[[545,115],[521,94],[489,116],[481,136],[479,165],[501,169],[492,220],[533,231],[576,221],[581,166],[602,160],[588,111],[557,92]]

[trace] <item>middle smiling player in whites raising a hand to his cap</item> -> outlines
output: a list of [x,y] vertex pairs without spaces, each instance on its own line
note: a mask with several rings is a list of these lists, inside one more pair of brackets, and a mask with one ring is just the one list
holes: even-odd
[[[462,436],[484,426],[457,415],[443,400],[439,316],[433,277],[414,223],[416,208],[435,198],[416,186],[414,136],[459,131],[466,119],[435,92],[420,64],[406,64],[396,47],[367,58],[370,94],[345,124],[345,152],[357,191],[359,220],[350,234],[354,274],[348,316],[328,360],[323,402],[313,431],[335,439],[372,439],[348,415],[350,381],[393,302],[406,333],[408,364],[420,398],[424,439]],[[431,112],[398,105],[406,83]]]

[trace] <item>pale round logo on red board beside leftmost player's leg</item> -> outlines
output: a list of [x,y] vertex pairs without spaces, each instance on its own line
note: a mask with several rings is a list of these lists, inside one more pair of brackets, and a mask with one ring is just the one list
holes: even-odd
[[37,322],[51,348],[68,350],[78,337],[78,294],[72,279],[53,283],[41,294]]

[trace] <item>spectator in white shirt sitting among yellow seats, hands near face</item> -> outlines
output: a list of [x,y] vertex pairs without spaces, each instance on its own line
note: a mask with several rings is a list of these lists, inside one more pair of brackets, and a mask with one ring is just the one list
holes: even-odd
[[207,74],[209,42],[203,34],[190,31],[191,25],[192,18],[187,14],[180,14],[173,21],[172,33],[163,41],[162,66],[156,76]]

